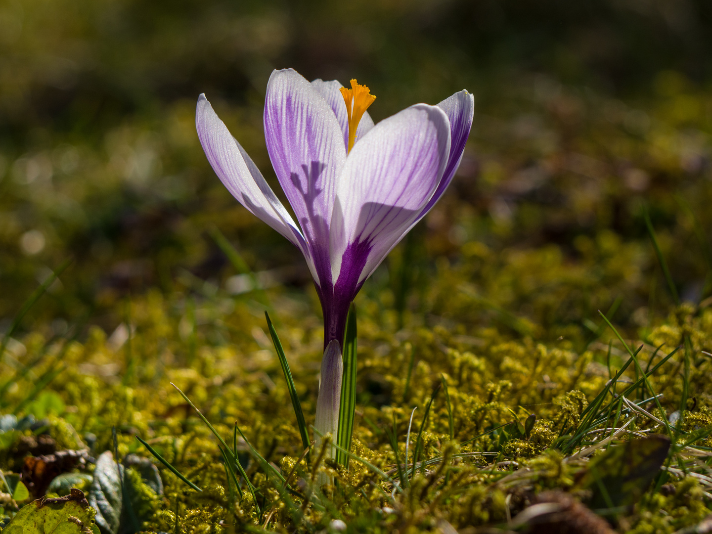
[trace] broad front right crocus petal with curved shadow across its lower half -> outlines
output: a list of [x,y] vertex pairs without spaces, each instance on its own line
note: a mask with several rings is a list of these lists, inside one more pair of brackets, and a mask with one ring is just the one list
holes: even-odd
[[332,276],[339,290],[360,287],[401,239],[433,196],[449,153],[447,115],[426,104],[379,122],[354,146],[331,224]]

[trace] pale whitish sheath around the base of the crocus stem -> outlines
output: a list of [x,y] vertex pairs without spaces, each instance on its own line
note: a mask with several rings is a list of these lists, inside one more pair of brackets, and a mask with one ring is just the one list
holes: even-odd
[[[341,401],[341,377],[344,362],[341,357],[341,346],[337,340],[332,340],[326,346],[321,360],[321,379],[319,382],[319,397],[316,400],[316,418],[314,428],[326,436],[331,434],[331,441],[336,441],[339,427],[339,405]],[[320,450],[323,438],[315,432],[315,450]],[[336,456],[335,447],[329,447],[327,456]]]

